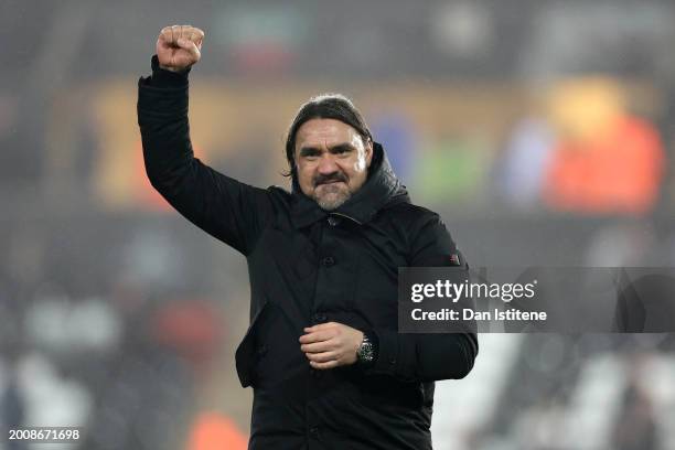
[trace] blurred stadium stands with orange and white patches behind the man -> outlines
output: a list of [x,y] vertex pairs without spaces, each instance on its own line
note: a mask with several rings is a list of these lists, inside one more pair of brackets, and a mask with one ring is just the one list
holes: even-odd
[[[159,31],[202,28],[199,157],[287,185],[286,127],[351,96],[472,266],[675,264],[675,2],[0,0],[0,424],[67,449],[244,449],[244,258],[150,188]],[[675,448],[672,334],[484,334],[444,449]],[[0,439],[0,450],[41,448]]]

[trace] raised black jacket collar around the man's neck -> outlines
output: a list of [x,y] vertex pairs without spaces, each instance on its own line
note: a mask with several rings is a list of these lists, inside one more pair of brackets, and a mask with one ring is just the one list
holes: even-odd
[[382,144],[373,142],[373,152],[367,181],[335,211],[321,210],[315,201],[302,193],[297,178],[293,176],[291,219],[296,228],[302,228],[329,215],[339,215],[357,224],[365,224],[385,206],[410,202],[408,192],[394,174]]

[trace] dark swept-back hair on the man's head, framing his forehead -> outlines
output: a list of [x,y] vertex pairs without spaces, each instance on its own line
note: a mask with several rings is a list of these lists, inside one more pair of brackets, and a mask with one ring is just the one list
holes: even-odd
[[361,111],[356,109],[351,99],[342,94],[321,94],[310,98],[300,107],[296,118],[288,128],[286,137],[286,160],[288,172],[286,176],[296,175],[296,136],[302,124],[311,119],[335,119],[356,130],[363,143],[373,140],[373,135],[366,125]]

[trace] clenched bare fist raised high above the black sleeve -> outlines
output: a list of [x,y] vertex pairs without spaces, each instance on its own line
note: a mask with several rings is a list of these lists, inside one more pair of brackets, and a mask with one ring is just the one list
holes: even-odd
[[204,32],[192,25],[164,26],[157,39],[160,67],[171,72],[184,71],[202,57],[200,50]]

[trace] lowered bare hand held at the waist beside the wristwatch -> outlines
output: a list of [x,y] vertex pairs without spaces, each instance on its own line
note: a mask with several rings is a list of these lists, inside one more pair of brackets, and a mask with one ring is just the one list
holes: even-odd
[[306,328],[300,350],[313,368],[334,368],[356,362],[363,333],[342,323],[329,322]]

